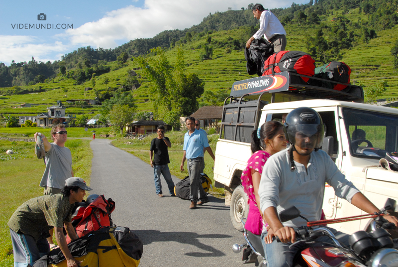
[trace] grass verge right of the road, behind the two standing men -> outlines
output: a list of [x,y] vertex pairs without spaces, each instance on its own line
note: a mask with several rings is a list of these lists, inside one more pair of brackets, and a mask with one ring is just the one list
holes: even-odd
[[[179,179],[183,179],[184,177],[188,176],[187,161],[185,161],[184,171],[180,170],[181,160],[183,158],[185,133],[185,131],[171,131],[165,134],[165,136],[169,137],[172,143],[172,147],[168,148],[170,158],[169,169],[171,174]],[[156,133],[150,134],[141,140],[118,138],[113,140],[112,144],[120,149],[129,152],[130,154],[133,154],[134,156],[142,159],[149,164],[149,147],[151,145],[152,139],[155,137],[157,137]],[[214,153],[215,145],[218,140],[218,134],[211,134],[207,137],[211,150],[213,150]],[[208,175],[208,177],[212,181],[212,185],[214,185],[214,175],[212,169],[212,167],[214,166],[214,161],[207,152],[204,153],[204,165],[204,173]],[[213,187],[213,189],[210,189],[209,192],[216,197],[224,196],[224,190],[221,188]]]

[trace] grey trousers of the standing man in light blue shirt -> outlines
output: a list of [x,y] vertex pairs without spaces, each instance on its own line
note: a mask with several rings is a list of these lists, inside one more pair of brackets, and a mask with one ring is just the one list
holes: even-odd
[[200,183],[200,176],[204,169],[204,158],[197,157],[188,159],[188,175],[190,176],[190,199],[193,202],[208,201],[206,192]]

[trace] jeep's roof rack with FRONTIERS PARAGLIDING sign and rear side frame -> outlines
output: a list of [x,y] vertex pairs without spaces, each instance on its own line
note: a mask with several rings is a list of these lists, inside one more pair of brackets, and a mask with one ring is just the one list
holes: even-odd
[[[286,71],[235,82],[230,96],[224,101],[220,138],[224,131],[224,137],[227,140],[250,143],[251,133],[256,130],[258,120],[260,120],[260,110],[268,103],[306,99],[332,99],[360,103],[364,101],[363,89],[360,86],[348,84],[344,90],[337,91],[304,84],[300,77],[330,83],[333,86],[343,84]],[[228,100],[229,103],[227,103]]]

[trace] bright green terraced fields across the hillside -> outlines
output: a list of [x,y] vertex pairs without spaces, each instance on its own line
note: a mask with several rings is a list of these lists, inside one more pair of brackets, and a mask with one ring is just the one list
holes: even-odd
[[[332,26],[331,18],[335,16],[339,10],[334,10],[334,15],[320,16],[322,23]],[[357,22],[360,18],[366,22],[368,16],[359,14],[359,10],[351,9],[344,17],[352,22]],[[288,24],[287,31],[287,50],[299,50],[307,52],[305,49],[305,35],[314,35],[315,28],[309,24]],[[356,31],[356,29],[354,29]],[[355,32],[358,34],[359,32]],[[389,30],[377,32],[378,37],[371,39],[369,43],[362,43],[359,41],[355,46],[348,50],[340,51],[341,55],[338,60],[347,63],[351,67],[351,80],[353,83],[360,83],[363,86],[368,86],[379,80],[386,80],[388,82],[388,90],[383,97],[396,97],[398,94],[398,74],[393,70],[393,57],[390,50],[395,41],[398,39],[398,26]],[[228,38],[241,40],[242,29],[233,29],[229,31],[218,31],[210,34],[213,42],[227,41]],[[213,49],[213,56],[210,60],[199,60],[199,55],[202,53],[202,48],[199,45],[205,43],[207,36],[199,38],[194,35],[192,42],[186,43],[183,46],[185,52],[186,69],[189,72],[196,73],[199,78],[205,82],[205,90],[224,90],[230,89],[233,82],[251,78],[246,73],[246,61],[243,51],[231,50],[231,53],[225,53],[225,47]],[[176,61],[175,48],[166,52],[169,61],[174,64]],[[320,64],[318,64],[320,65]],[[120,83],[126,76],[127,70],[138,67],[134,61],[128,60],[123,66],[117,66],[116,62],[108,62],[112,71],[96,77],[95,89],[103,91],[108,87],[118,88]],[[140,70],[136,71],[138,75]],[[103,80],[109,79],[108,84],[104,84]],[[0,88],[0,113],[3,115],[11,114],[19,115],[36,115],[46,112],[46,108],[56,104],[57,100],[66,101],[68,99],[94,99],[94,90],[84,91],[85,87],[93,87],[90,81],[80,85],[74,85],[75,81],[67,79],[63,76],[58,76],[49,83],[40,84],[40,86],[48,91],[42,93],[32,93],[26,95],[11,95],[4,96],[6,90],[9,88]],[[141,87],[133,92],[137,111],[152,111],[152,101],[149,96],[149,87],[151,84],[146,79],[141,80]],[[22,86],[22,88],[37,88],[39,85]],[[201,100],[199,99],[199,102]],[[34,103],[40,104],[31,108],[19,108],[20,103]],[[67,107],[67,114],[95,114],[99,113],[99,106],[89,107]]]

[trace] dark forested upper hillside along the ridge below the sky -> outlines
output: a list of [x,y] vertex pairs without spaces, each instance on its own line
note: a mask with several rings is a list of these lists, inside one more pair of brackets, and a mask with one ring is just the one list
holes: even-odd
[[[239,34],[234,38],[214,45],[241,50],[248,36],[258,28],[251,7],[252,4],[249,4],[241,10],[210,13],[200,24],[191,28],[163,31],[153,38],[131,40],[115,49],[93,49],[88,46],[66,54],[61,61],[37,62],[32,58],[27,63],[13,62],[10,66],[0,63],[0,87],[34,85],[73,69],[84,72],[81,79],[88,80],[93,73],[108,72],[106,62],[145,55],[151,48],[158,46],[171,48],[214,31],[238,28]],[[347,18],[353,9],[358,9],[360,14],[355,21]],[[338,60],[344,49],[366,43],[376,38],[379,31],[395,26],[398,23],[397,10],[398,0],[310,0],[307,4],[292,3],[288,8],[271,9],[288,32],[311,29],[313,34],[302,32],[302,35],[307,34],[304,39],[305,52],[320,63]],[[322,21],[322,18],[330,15],[334,16],[337,23],[328,25]]]

